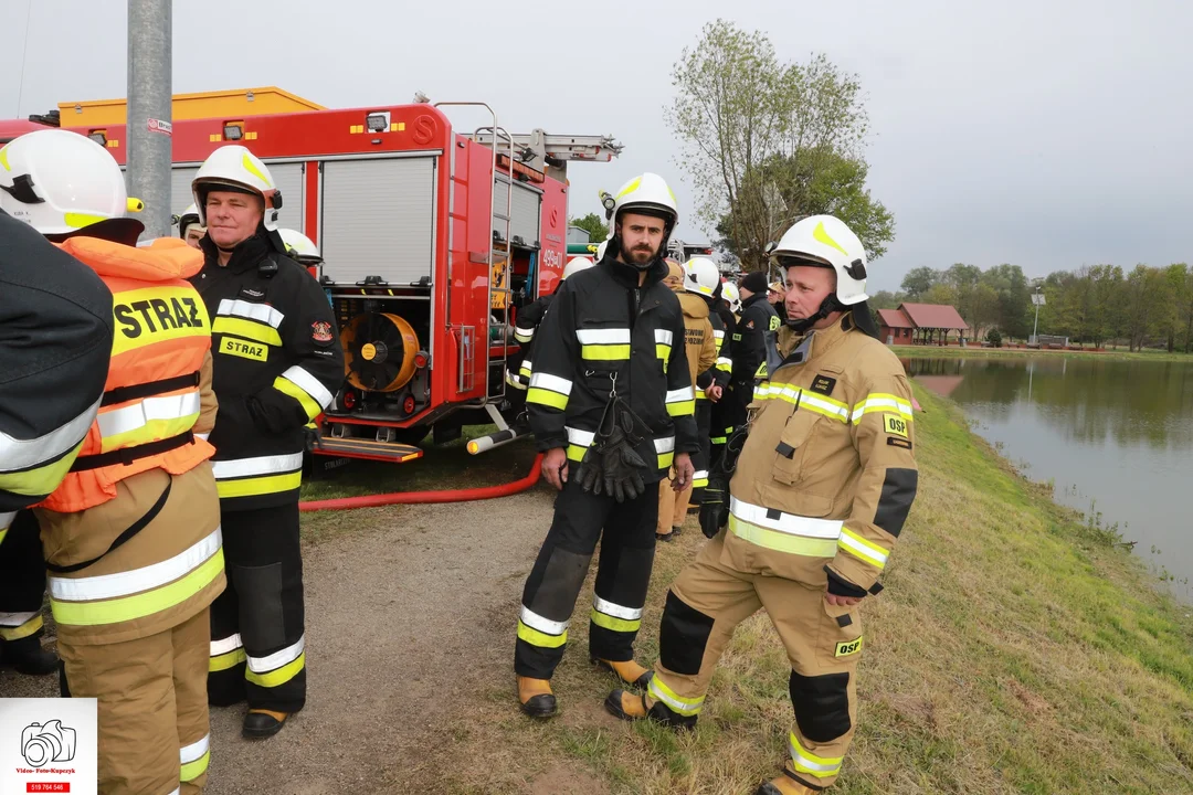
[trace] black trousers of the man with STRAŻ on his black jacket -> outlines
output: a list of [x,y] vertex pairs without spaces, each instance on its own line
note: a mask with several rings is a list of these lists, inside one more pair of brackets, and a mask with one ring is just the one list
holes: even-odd
[[208,697],[296,713],[307,702],[298,502],[222,515],[228,588],[211,604]]

